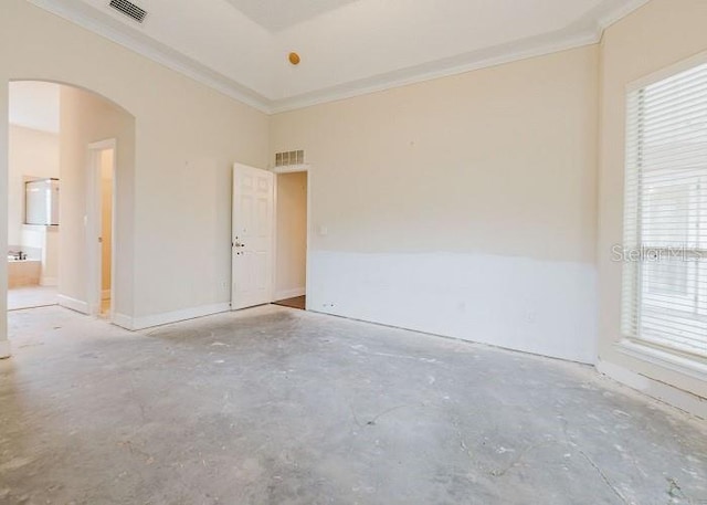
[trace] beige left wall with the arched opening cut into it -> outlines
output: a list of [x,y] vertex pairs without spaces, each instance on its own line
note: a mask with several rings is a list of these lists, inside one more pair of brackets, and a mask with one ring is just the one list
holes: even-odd
[[[147,316],[228,307],[231,165],[266,165],[267,116],[24,0],[0,2],[0,117],[9,80],[76,85],[135,117],[134,169],[116,181],[126,209],[117,217],[126,259],[114,280],[124,284],[118,322],[139,326]],[[6,148],[0,122],[0,152]],[[6,186],[0,178],[0,204]],[[6,276],[0,264],[0,284]]]

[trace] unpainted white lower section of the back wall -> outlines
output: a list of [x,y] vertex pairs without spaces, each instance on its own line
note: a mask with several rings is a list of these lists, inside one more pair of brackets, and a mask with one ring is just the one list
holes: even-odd
[[573,361],[597,359],[590,263],[312,251],[312,311]]

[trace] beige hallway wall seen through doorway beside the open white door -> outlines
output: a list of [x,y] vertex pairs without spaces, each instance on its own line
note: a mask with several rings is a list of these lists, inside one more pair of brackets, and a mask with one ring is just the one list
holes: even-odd
[[307,273],[307,172],[277,176],[276,244],[275,297],[299,296]]

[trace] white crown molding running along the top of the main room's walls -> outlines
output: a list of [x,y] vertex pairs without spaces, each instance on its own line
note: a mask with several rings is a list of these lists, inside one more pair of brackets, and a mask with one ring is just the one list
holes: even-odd
[[570,27],[551,33],[279,99],[271,99],[89,6],[62,0],[28,1],[265,114],[278,114],[595,44],[606,28],[650,0],[631,0],[614,9],[603,9],[606,12],[592,10]]

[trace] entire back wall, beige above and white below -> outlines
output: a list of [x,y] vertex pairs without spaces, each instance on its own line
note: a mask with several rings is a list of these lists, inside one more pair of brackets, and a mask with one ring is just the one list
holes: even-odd
[[274,116],[316,170],[308,306],[593,362],[598,70],[588,46]]

